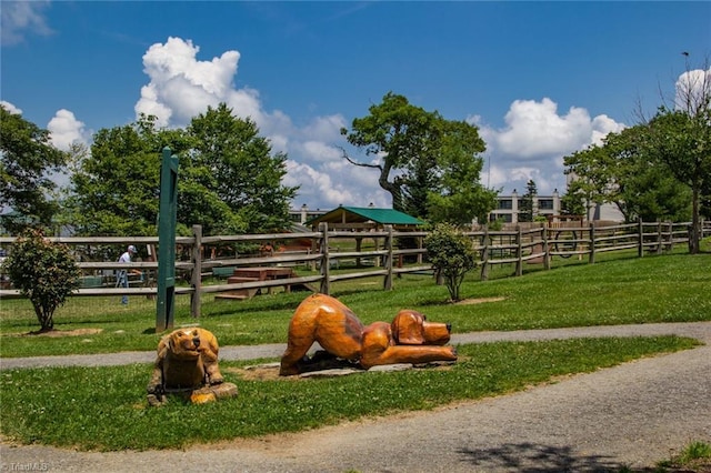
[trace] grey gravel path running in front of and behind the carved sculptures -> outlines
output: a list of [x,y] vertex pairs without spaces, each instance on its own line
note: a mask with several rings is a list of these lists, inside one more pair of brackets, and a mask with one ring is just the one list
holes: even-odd
[[[711,322],[458,334],[454,343],[679,334],[705,345],[527,391],[314,431],[186,451],[76,452],[0,443],[0,470],[78,472],[593,472],[652,466],[711,443]],[[221,359],[283,345],[226,346]],[[152,353],[2,360],[1,369],[150,362]]]

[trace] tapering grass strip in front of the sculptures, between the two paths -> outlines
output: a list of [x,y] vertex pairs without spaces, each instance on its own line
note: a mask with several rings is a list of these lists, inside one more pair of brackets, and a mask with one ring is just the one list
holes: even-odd
[[238,396],[201,405],[171,399],[161,407],[146,402],[148,364],[0,371],[0,432],[9,441],[81,450],[181,449],[431,410],[697,343],[658,336],[467,344],[451,366],[320,380],[253,381],[237,370],[244,362],[223,362]]

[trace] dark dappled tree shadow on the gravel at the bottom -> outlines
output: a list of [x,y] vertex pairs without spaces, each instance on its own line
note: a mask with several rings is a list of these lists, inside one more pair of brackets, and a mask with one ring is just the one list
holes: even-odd
[[534,443],[507,443],[491,449],[460,449],[463,461],[477,470],[543,472],[619,472],[629,471],[609,456],[579,455],[570,446]]

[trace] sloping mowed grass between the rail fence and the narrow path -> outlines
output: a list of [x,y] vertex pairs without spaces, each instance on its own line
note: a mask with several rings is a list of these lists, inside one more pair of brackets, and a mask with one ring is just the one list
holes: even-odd
[[[550,271],[527,265],[521,278],[510,276],[512,266],[497,266],[488,281],[472,271],[462,295],[497,302],[449,303],[447,288],[428,274],[404,274],[392,291],[382,291],[381,278],[338,282],[332,294],[364,323],[390,321],[409,308],[431,321],[451,323],[454,333],[711,320],[711,254],[601,256],[609,260],[585,264],[557,259]],[[286,343],[289,319],[308,294],[276,293],[249,301],[207,295],[200,319],[190,316],[189,298],[179,296],[174,324],[200,324],[214,332],[221,345]],[[160,338],[154,333],[156,302],[140,296],[131,298],[128,308],[119,298],[72,298],[54,319],[59,332],[73,336],[28,335],[38,329],[31,304],[1,301],[0,356],[152,351]]]

